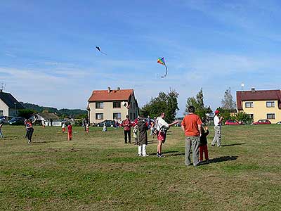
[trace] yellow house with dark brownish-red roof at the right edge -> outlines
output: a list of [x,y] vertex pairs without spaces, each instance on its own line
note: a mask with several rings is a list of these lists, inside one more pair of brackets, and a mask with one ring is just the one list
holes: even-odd
[[244,111],[258,120],[269,120],[271,123],[281,121],[281,91],[255,90],[237,91],[237,110]]

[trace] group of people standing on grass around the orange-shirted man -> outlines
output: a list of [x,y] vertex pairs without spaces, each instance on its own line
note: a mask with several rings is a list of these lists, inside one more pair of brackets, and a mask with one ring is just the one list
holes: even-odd
[[[218,117],[219,111],[216,110],[214,117],[214,129],[215,135],[214,139],[211,142],[211,146],[217,144],[218,147],[221,147],[221,122],[223,117]],[[166,140],[166,132],[174,124],[177,124],[178,121],[168,123],[164,120],[165,113],[161,113],[159,117],[155,120],[155,127],[152,129],[152,132],[157,135],[157,157],[163,158],[162,154],[162,144]],[[138,123],[133,127],[133,137],[135,138],[135,144],[138,145],[138,155],[139,156],[148,156],[146,153],[146,146],[148,144],[148,135],[147,131],[148,121],[144,118],[138,118]],[[125,143],[131,143],[131,122],[129,116],[126,116],[126,120],[123,121],[124,127],[124,141]],[[188,107],[188,115],[185,115],[183,121],[181,122],[181,128],[185,134],[185,165],[200,165],[200,162],[203,161],[203,154],[205,160],[209,160],[208,147],[207,147],[207,136],[209,135],[208,127],[202,127],[202,120],[200,117],[195,114],[195,107]],[[191,151],[192,151],[192,161],[191,162]]]

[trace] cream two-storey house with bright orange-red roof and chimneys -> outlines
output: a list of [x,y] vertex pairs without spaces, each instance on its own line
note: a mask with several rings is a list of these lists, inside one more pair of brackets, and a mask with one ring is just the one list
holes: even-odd
[[93,123],[104,120],[130,120],[138,117],[138,102],[133,89],[94,90],[88,100],[88,118]]

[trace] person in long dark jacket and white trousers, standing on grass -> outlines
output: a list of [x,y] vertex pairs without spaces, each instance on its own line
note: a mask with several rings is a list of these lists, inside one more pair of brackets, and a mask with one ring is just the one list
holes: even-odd
[[148,125],[145,119],[138,120],[138,156],[146,157],[146,146],[148,145]]

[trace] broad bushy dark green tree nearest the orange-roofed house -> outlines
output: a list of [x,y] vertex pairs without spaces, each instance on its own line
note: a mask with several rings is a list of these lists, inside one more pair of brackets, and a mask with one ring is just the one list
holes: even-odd
[[146,103],[143,108],[141,108],[141,115],[147,117],[158,117],[160,113],[164,112],[166,114],[166,121],[172,122],[176,117],[176,112],[178,111],[178,93],[175,90],[170,90],[168,94],[164,92],[159,92],[158,96],[151,98],[151,100]]

